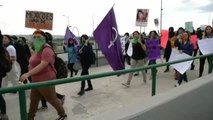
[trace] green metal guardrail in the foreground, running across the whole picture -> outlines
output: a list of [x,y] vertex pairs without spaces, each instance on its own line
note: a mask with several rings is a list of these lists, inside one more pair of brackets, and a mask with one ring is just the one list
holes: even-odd
[[19,105],[20,105],[20,116],[21,120],[27,120],[27,106],[26,106],[26,94],[25,90],[32,89],[32,88],[40,88],[40,87],[47,87],[47,86],[53,86],[53,85],[59,85],[59,84],[65,84],[65,83],[72,83],[72,82],[78,82],[83,81],[87,79],[96,79],[101,77],[108,77],[108,76],[114,76],[114,75],[120,75],[120,74],[126,74],[126,73],[132,73],[137,72],[141,70],[151,69],[152,74],[152,96],[156,94],[156,68],[181,63],[185,61],[195,60],[208,57],[209,62],[209,69],[208,73],[212,73],[212,60],[213,60],[213,54],[208,55],[202,55],[198,57],[192,57],[167,63],[160,63],[160,64],[154,64],[144,67],[137,67],[134,69],[127,69],[127,70],[118,70],[118,71],[112,71],[112,72],[105,72],[105,73],[99,73],[99,74],[92,74],[92,75],[85,75],[85,76],[79,76],[79,77],[73,77],[73,78],[64,78],[64,79],[57,79],[57,80],[51,80],[46,82],[40,82],[40,83],[30,83],[30,84],[23,84],[23,85],[17,85],[13,87],[7,87],[7,88],[0,88],[0,94],[9,93],[9,92],[15,92],[18,91],[19,93]]

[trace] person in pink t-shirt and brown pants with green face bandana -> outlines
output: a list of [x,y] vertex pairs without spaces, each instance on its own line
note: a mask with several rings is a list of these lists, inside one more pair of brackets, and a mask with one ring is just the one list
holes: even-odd
[[[20,77],[20,81],[26,81],[30,76],[32,83],[56,79],[56,70],[53,67],[55,53],[51,47],[43,48],[44,46],[48,46],[45,41],[45,33],[41,30],[36,30],[33,33],[33,47],[35,53],[30,57],[29,71]],[[47,100],[56,109],[59,115],[59,118],[56,120],[64,120],[67,118],[65,110],[56,96],[55,86],[48,86],[31,89],[28,120],[34,120],[41,98]]]

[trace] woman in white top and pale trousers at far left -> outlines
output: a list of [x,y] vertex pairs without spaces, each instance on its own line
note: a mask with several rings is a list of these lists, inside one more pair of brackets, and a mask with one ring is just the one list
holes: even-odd
[[2,80],[2,87],[8,86],[8,81],[12,85],[18,85],[21,69],[19,63],[16,61],[16,49],[12,45],[12,39],[9,35],[3,35],[3,45],[9,53],[10,60],[12,61],[12,69],[7,73],[6,77]]

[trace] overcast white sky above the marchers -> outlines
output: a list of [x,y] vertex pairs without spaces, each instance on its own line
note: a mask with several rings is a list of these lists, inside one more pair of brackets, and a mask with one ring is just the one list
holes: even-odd
[[[113,4],[120,34],[140,31],[140,27],[135,26],[137,9],[149,9],[148,26],[141,32],[159,29],[154,19],[160,19],[161,0],[0,0],[3,5],[0,7],[0,29],[3,34],[32,34],[34,29],[25,28],[25,11],[35,10],[54,14],[53,30],[49,31],[54,35],[65,34],[68,18],[70,26],[76,26],[80,35],[92,35]],[[184,27],[187,21],[193,21],[195,28],[211,25],[212,6],[213,0],[163,0],[162,28],[174,26],[176,30]],[[73,33],[78,35],[75,29]]]

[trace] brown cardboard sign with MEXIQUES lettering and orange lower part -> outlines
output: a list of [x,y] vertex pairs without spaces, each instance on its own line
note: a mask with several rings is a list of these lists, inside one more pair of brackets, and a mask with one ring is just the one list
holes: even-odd
[[25,27],[52,30],[53,13],[26,11]]

